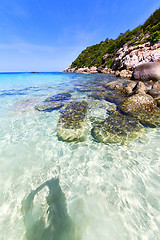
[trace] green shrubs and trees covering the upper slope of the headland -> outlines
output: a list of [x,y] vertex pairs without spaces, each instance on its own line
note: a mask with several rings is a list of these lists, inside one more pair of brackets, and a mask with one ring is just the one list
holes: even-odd
[[160,41],[160,8],[157,9],[143,24],[133,30],[121,33],[117,39],[106,39],[99,44],[87,47],[72,63],[71,68],[91,66],[112,66],[117,51],[124,44],[128,46],[143,44],[145,42],[156,43]]

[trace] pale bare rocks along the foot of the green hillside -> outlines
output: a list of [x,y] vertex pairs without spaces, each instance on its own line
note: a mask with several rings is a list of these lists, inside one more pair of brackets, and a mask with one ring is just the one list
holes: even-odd
[[[108,54],[103,56],[103,60]],[[117,57],[111,68],[92,66],[91,68],[71,68],[68,67],[64,72],[76,72],[84,74],[107,73],[114,74],[117,77],[131,78],[135,67],[143,63],[160,61],[160,42],[152,44],[150,42],[128,47],[125,44],[117,51]]]

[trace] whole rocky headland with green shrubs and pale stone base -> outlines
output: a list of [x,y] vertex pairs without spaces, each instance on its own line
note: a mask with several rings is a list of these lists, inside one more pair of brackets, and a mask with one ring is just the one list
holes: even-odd
[[160,60],[160,8],[143,24],[87,47],[66,72],[114,73],[130,77],[135,66]]

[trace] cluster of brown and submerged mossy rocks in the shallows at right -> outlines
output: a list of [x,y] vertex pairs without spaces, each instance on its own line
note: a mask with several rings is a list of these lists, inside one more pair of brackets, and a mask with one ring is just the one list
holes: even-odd
[[[138,138],[147,127],[160,126],[160,82],[124,80],[123,82],[85,83],[76,88],[88,94],[90,101],[112,102],[116,108],[106,107],[106,116],[88,122],[87,102],[71,102],[63,111],[57,125],[58,137],[63,141],[83,141],[91,131],[102,143],[128,144]],[[91,99],[91,100],[90,100]],[[94,100],[93,100],[94,99]],[[89,103],[90,104],[90,103]],[[88,122],[88,123],[87,123]],[[91,129],[89,128],[91,126]]]

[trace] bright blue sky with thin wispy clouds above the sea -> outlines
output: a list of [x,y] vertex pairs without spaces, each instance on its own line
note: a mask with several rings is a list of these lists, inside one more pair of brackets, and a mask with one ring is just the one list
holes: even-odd
[[63,71],[86,47],[143,24],[160,0],[0,0],[0,72]]

